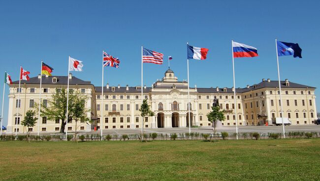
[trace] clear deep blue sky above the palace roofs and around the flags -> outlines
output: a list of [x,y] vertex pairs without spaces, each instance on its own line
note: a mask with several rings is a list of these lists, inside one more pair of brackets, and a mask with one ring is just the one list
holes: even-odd
[[[105,84],[136,86],[143,45],[172,56],[170,67],[183,80],[189,41],[209,49],[207,60],[190,60],[190,85],[232,87],[233,39],[258,49],[259,57],[235,59],[236,87],[245,87],[262,78],[278,80],[278,37],[299,43],[303,57],[280,57],[281,79],[320,88],[319,7],[318,0],[0,1],[0,72],[7,70],[15,81],[22,65],[36,76],[44,60],[54,75],[66,75],[70,55],[84,63],[83,72],[73,75],[101,86],[105,50],[121,60],[120,68],[105,68]],[[167,61],[145,63],[144,84],[151,86],[166,69]],[[4,122],[7,94],[8,87]]]

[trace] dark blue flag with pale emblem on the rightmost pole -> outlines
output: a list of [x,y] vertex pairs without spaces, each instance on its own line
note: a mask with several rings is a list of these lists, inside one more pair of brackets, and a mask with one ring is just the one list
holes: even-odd
[[278,56],[293,55],[293,57],[301,57],[302,49],[298,43],[287,43],[283,41],[277,41]]

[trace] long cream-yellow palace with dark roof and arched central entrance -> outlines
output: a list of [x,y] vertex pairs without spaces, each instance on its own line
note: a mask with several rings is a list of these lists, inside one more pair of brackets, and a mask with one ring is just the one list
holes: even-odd
[[[188,106],[190,106],[191,125],[211,126],[206,115],[211,111],[215,98],[219,99],[221,109],[224,110],[225,121],[223,125],[269,125],[275,118],[281,117],[279,84],[278,81],[262,79],[262,82],[236,89],[236,103],[234,104],[234,88],[190,88],[190,103],[188,104],[188,83],[178,81],[171,69],[164,73],[162,80],[152,87],[126,87],[109,86],[103,89],[95,87],[91,82],[80,80],[69,75],[70,89],[78,90],[88,96],[86,107],[90,109],[88,118],[91,124],[82,123],[77,130],[100,129],[132,129],[141,128],[142,118],[139,108],[141,106],[141,89],[143,99],[148,99],[154,117],[147,117],[144,123],[146,128],[188,127]],[[18,123],[18,132],[25,132],[20,124],[26,111],[34,109],[34,103],[39,101],[40,76],[30,81],[21,81],[20,101],[18,101],[19,81],[10,85],[9,112],[7,133],[15,132]],[[281,81],[284,117],[290,119],[292,124],[313,124],[317,119],[316,96],[314,87]],[[43,104],[51,98],[56,88],[66,88],[67,76],[42,76]],[[103,90],[103,102],[101,102]],[[16,108],[19,106],[19,113]],[[103,109],[103,111],[102,111]],[[237,115],[235,115],[237,109]],[[101,112],[103,112],[101,114]],[[40,120],[40,132],[59,132],[60,121]],[[79,124],[79,123],[78,123]],[[32,128],[37,132],[38,126]],[[69,121],[66,127],[69,131],[75,130],[75,122]]]

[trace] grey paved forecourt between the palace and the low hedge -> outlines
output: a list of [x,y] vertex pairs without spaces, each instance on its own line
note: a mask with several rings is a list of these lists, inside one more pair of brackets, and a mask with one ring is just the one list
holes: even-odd
[[[304,132],[311,132],[316,131],[320,132],[320,125],[290,125],[285,126],[285,130],[287,131],[304,131]],[[189,128],[157,128],[151,129],[146,128],[144,129],[145,133],[162,133],[162,134],[170,134],[170,133],[186,133],[189,132]],[[201,128],[191,128],[192,132],[198,133],[212,133],[211,127],[201,127]],[[225,131],[225,132],[235,132],[235,126],[224,126],[217,128],[218,132]],[[282,126],[239,126],[238,132],[282,132]],[[99,134],[100,131],[90,131],[85,132],[84,134]],[[139,134],[141,133],[141,129],[110,129],[110,130],[103,130],[103,134]]]

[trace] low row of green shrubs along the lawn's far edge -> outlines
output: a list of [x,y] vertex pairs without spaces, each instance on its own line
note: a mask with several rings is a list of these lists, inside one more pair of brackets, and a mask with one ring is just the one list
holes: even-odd
[[[287,132],[286,138],[312,138],[312,137],[320,137],[320,132],[302,132],[302,131],[294,131],[294,132]],[[228,133],[228,132],[220,132],[217,133],[215,136],[211,134],[205,133],[171,133],[171,134],[158,134],[158,133],[149,133],[144,134],[145,140],[224,140],[224,139],[236,139],[236,133]],[[283,138],[282,133],[257,133],[257,132],[242,132],[238,133],[239,139],[278,139]],[[1,141],[26,141],[27,135],[18,135],[17,139],[15,135],[1,135]],[[29,136],[30,141],[64,141],[65,135],[41,135]],[[67,140],[74,140],[73,135],[68,135]],[[100,134],[86,134],[86,135],[78,135],[77,141],[100,141],[101,135]],[[103,135],[102,140],[141,140],[141,134],[107,134]]]

